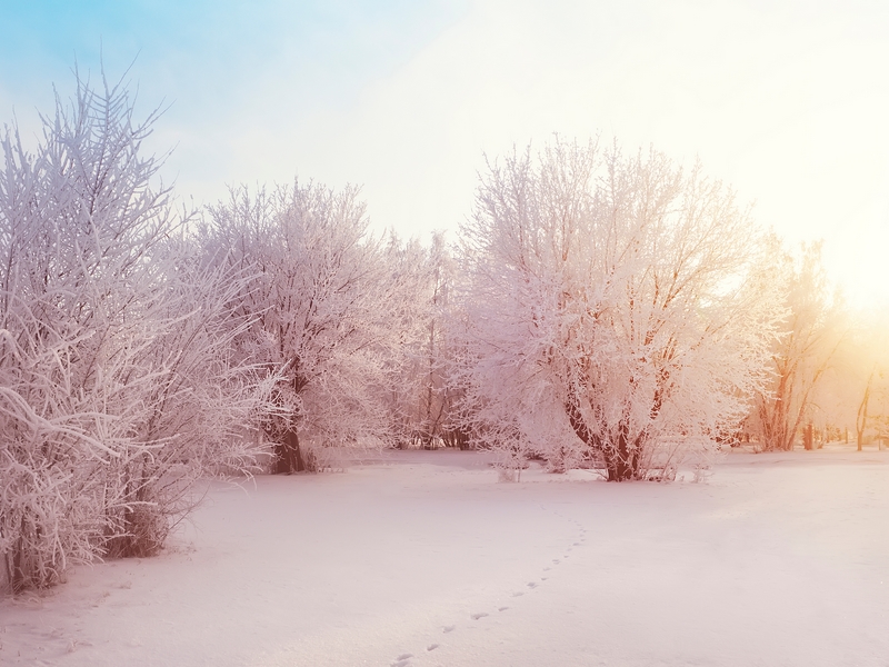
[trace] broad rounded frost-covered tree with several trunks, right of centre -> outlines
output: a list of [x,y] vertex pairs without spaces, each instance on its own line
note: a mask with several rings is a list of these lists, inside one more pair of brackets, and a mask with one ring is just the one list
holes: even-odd
[[780,305],[698,166],[556,140],[489,165],[462,231],[463,406],[515,465],[670,478],[763,387]]

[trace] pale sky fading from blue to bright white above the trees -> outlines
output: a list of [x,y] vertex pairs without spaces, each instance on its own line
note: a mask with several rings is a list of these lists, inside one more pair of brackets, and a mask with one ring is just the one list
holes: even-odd
[[0,121],[126,77],[198,206],[362,186],[377,229],[472,211],[485,156],[553,132],[699,158],[789,245],[889,303],[889,3],[872,0],[0,0]]

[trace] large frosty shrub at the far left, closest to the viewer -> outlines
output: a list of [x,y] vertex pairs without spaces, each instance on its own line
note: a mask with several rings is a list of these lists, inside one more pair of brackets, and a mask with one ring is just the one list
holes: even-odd
[[[251,465],[266,411],[228,342],[242,275],[202,268],[140,156],[124,86],[78,77],[28,151],[0,169],[0,581],[58,581],[78,561],[148,555],[207,466]],[[264,381],[268,385],[268,381]],[[263,394],[264,391],[264,394]]]

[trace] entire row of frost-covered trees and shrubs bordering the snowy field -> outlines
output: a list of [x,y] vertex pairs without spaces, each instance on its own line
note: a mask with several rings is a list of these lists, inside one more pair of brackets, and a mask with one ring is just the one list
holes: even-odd
[[179,209],[140,150],[156,119],[78,80],[34,149],[2,138],[0,587],[151,555],[199,478],[344,447],[618,481],[788,449],[827,428],[842,355],[863,432],[879,367],[818,249],[788,256],[698,166],[556,140],[491,162],[457,245],[422,246],[372,233],[354,188]]

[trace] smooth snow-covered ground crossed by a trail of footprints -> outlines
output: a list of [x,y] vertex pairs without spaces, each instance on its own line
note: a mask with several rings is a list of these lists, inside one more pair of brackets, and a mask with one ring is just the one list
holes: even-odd
[[703,484],[485,455],[213,482],[158,558],[0,600],[0,664],[889,665],[889,451]]

